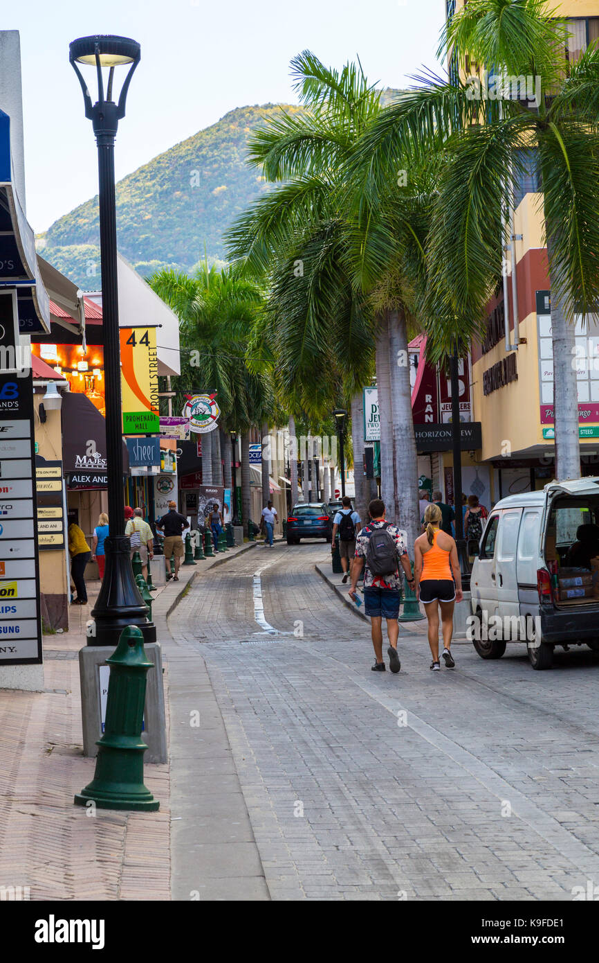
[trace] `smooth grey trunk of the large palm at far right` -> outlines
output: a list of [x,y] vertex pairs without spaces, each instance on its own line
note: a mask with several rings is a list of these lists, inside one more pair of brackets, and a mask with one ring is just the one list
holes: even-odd
[[[551,235],[547,232],[547,254],[552,263]],[[559,273],[555,272],[555,273]],[[551,290],[551,336],[553,341],[553,410],[556,447],[556,479],[580,478],[581,455],[578,430],[578,383],[574,325],[567,320],[564,305]]]

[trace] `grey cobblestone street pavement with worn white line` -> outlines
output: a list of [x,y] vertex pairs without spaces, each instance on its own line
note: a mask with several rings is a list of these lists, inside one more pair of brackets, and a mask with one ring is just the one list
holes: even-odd
[[599,660],[535,672],[524,647],[484,662],[457,643],[431,673],[420,622],[400,627],[399,675],[373,673],[323,560],[324,543],[258,548],[169,619],[206,662],[268,896],[571,900],[599,880]]

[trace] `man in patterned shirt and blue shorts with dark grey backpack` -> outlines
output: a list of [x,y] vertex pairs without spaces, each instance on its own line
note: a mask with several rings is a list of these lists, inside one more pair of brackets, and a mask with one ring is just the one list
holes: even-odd
[[385,518],[385,503],[380,498],[372,500],[368,506],[371,521],[359,532],[356,539],[356,558],[352,568],[352,587],[349,594],[355,598],[356,586],[366,564],[364,572],[364,612],[370,616],[370,631],[376,662],[372,666],[373,672],[385,672],[383,661],[383,628],[382,620],[387,619],[387,637],[389,645],[387,655],[391,672],[399,672],[401,663],[397,654],[397,638],[399,636],[399,603],[401,597],[401,581],[398,562],[405,572],[408,582],[413,584],[412,566],[404,537],[396,525],[391,525]]

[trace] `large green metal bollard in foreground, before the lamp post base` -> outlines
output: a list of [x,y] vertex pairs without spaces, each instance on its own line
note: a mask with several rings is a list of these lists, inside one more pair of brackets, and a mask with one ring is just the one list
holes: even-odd
[[120,634],[111,666],[104,735],[96,742],[98,757],[92,781],[75,796],[77,806],[93,802],[98,809],[156,812],[160,802],[143,785],[141,739],[146,674],[154,668],[143,651],[137,625]]

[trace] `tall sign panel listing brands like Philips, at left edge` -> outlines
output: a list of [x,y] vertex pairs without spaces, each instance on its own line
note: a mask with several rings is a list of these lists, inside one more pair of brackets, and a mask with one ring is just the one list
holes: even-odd
[[[5,404],[10,406],[5,406]],[[34,386],[0,375],[0,666],[41,663]],[[42,481],[58,481],[44,478]],[[62,530],[57,534],[62,538]]]

